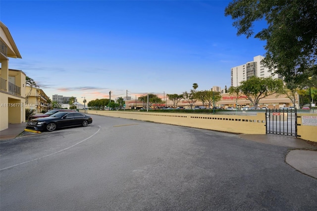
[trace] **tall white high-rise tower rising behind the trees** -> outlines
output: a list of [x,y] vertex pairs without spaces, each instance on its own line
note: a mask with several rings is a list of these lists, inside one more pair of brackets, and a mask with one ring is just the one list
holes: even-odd
[[245,64],[232,67],[231,68],[231,86],[237,87],[240,86],[242,81],[246,81],[252,76],[266,78],[272,76],[272,78],[280,78],[282,77],[278,74],[274,74],[271,72],[267,67],[264,67],[261,64],[262,59],[264,56],[258,55],[253,57],[253,61],[249,61]]

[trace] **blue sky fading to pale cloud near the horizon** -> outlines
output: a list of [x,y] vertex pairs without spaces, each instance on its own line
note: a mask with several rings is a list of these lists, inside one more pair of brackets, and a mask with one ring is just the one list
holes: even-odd
[[[230,87],[230,68],[264,55],[236,36],[227,0],[1,0],[0,20],[22,59],[10,58],[52,95],[111,99]],[[258,31],[265,25],[260,23]]]

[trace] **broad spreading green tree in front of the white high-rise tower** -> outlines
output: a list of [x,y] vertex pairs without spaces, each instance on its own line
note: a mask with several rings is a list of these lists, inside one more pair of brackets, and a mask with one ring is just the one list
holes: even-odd
[[272,79],[271,77],[258,78],[252,76],[250,79],[242,81],[240,86],[230,87],[229,93],[236,94],[237,97],[246,96],[251,104],[257,108],[261,99],[279,93],[282,89],[283,81],[280,79]]

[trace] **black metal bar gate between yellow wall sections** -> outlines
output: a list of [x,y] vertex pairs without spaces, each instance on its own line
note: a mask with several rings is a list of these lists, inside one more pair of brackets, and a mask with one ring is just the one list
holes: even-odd
[[297,137],[297,110],[266,109],[266,134]]

